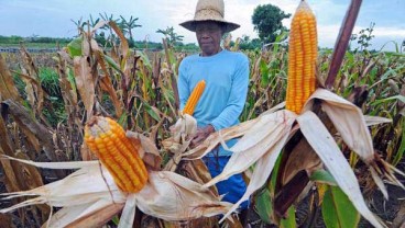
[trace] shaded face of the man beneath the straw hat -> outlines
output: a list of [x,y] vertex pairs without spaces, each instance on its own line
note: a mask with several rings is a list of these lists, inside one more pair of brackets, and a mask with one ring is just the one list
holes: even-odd
[[198,22],[196,35],[202,56],[212,56],[220,50],[222,37],[221,26],[217,22]]

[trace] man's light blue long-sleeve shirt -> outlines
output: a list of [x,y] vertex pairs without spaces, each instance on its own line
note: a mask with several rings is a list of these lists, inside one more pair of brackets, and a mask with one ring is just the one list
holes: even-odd
[[[200,80],[206,81],[206,89],[194,112],[198,127],[211,124],[219,130],[239,124],[248,94],[248,57],[242,53],[221,50],[209,57],[193,55],[183,59],[177,82],[180,110]],[[231,139],[227,145],[231,147],[236,142]],[[218,152],[219,156],[231,155],[221,146]]]

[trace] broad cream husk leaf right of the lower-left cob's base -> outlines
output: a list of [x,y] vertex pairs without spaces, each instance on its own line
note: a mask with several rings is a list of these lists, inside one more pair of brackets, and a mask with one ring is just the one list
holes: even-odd
[[227,212],[231,204],[218,202],[208,190],[174,172],[150,172],[150,182],[136,194],[138,207],[164,220],[188,220]]

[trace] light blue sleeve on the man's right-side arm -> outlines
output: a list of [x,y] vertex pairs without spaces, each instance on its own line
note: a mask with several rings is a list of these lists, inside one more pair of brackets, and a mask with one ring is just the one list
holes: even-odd
[[210,124],[216,130],[232,126],[243,111],[249,86],[249,59],[247,56],[238,62],[231,84],[231,93],[226,109]]

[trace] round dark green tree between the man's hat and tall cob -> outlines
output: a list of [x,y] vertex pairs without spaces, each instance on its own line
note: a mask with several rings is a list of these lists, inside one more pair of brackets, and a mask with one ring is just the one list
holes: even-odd
[[258,31],[259,37],[264,42],[274,42],[277,31],[286,31],[282,21],[288,19],[291,14],[286,14],[280,8],[273,4],[263,4],[254,9],[252,23],[254,30]]

